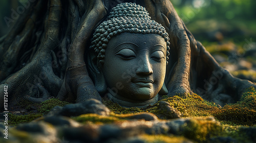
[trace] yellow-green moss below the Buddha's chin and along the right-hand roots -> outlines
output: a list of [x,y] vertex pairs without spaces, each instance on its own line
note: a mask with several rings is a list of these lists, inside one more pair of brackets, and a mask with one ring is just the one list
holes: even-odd
[[[179,94],[174,97],[165,97],[162,101],[182,113],[182,117],[188,116],[215,116],[217,120],[230,125],[253,126],[256,125],[256,90],[250,87],[242,94],[242,98],[235,104],[227,104],[218,107],[215,103],[203,100],[197,94]],[[147,108],[125,108],[108,99],[103,103],[116,114],[152,112],[156,115],[161,113],[157,110],[157,104]]]

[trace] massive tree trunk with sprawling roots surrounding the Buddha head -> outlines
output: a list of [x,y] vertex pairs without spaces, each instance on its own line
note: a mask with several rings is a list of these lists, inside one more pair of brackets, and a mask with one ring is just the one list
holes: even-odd
[[[30,2],[30,1],[29,1]],[[117,3],[129,1],[38,0],[0,39],[0,101],[8,105],[50,97],[69,102],[101,100],[84,53],[93,30]],[[234,78],[195,40],[168,0],[131,1],[145,7],[169,33],[171,50],[165,84],[168,96],[196,92],[223,105],[239,100],[249,81]],[[3,110],[3,102],[0,102]]]

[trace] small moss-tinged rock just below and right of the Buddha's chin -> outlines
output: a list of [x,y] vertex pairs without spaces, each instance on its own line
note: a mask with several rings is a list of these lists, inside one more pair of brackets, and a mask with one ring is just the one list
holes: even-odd
[[164,119],[180,118],[181,112],[170,106],[168,102],[160,101],[158,108],[158,117]]

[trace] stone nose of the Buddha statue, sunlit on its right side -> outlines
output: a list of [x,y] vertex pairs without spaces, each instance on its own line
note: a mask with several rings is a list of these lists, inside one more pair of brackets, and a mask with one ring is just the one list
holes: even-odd
[[145,74],[145,75],[152,75],[153,69],[152,65],[150,63],[150,60],[148,59],[147,55],[144,55],[140,58],[140,61],[138,62],[138,68],[136,70],[137,75]]

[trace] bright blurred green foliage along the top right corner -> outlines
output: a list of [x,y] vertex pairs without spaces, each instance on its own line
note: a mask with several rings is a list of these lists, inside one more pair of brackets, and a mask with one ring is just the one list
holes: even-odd
[[[255,18],[254,0],[171,0],[179,15],[184,14],[190,20],[215,18],[217,20]],[[195,16],[191,17],[191,12]],[[198,12],[198,13],[196,13]]]

